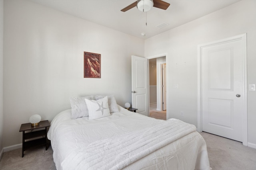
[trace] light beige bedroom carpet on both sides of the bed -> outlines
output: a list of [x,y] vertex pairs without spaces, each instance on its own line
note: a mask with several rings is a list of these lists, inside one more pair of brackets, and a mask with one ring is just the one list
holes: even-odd
[[[210,166],[213,170],[256,170],[256,149],[245,147],[242,143],[212,135],[201,133],[204,137]],[[3,154],[0,160],[1,170],[55,170],[52,158],[52,148],[44,147],[25,151],[11,150]],[[170,169],[172,169],[170,167]]]

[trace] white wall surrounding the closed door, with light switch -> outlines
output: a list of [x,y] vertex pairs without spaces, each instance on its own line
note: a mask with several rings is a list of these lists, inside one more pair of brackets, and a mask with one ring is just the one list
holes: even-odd
[[[145,56],[167,53],[167,119],[197,125],[197,45],[247,33],[247,83],[256,84],[256,1],[243,0],[145,40]],[[178,84],[178,89],[173,85]],[[248,90],[248,143],[256,148],[256,92]],[[180,116],[184,111],[184,117]]]

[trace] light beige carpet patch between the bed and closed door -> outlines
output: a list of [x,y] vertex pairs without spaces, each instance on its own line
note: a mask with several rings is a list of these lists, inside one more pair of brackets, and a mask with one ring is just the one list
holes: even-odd
[[256,170],[256,149],[241,142],[202,132],[213,170]]

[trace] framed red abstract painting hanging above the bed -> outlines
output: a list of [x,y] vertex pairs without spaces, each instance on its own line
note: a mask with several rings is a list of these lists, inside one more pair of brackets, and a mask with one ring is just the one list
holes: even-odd
[[84,52],[84,78],[100,78],[100,54]]

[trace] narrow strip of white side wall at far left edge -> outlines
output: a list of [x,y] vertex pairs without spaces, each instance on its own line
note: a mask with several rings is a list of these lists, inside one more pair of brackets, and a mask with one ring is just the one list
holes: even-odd
[[0,158],[3,149],[3,43],[4,43],[4,0],[0,0]]

